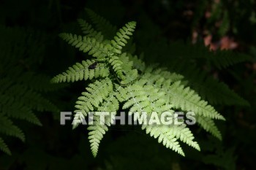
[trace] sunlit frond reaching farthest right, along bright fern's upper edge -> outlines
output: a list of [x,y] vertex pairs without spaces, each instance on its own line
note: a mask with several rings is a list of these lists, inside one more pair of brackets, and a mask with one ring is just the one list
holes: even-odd
[[[152,70],[148,70],[152,72]],[[182,110],[192,111],[198,115],[204,115],[205,117],[211,117],[215,119],[225,120],[213,107],[207,104],[206,101],[201,100],[194,90],[190,88],[184,88],[181,85],[182,76],[178,74],[170,74],[168,72],[154,71],[155,74],[146,73],[143,75],[143,82],[151,85],[157,85],[167,94],[167,101],[173,104],[176,108]],[[164,75],[166,74],[166,75]],[[167,78],[167,80],[165,79]],[[173,77],[173,78],[172,78]],[[172,85],[171,83],[174,82]]]

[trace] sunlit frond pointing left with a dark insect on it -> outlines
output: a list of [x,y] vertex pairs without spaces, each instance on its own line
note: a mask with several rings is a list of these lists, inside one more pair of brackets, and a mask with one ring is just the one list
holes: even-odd
[[82,61],[82,63],[76,63],[66,72],[53,77],[52,82],[75,82],[78,80],[91,80],[98,77],[107,77],[109,74],[108,68],[103,63],[97,63],[94,69],[90,69],[91,64],[96,61]]

